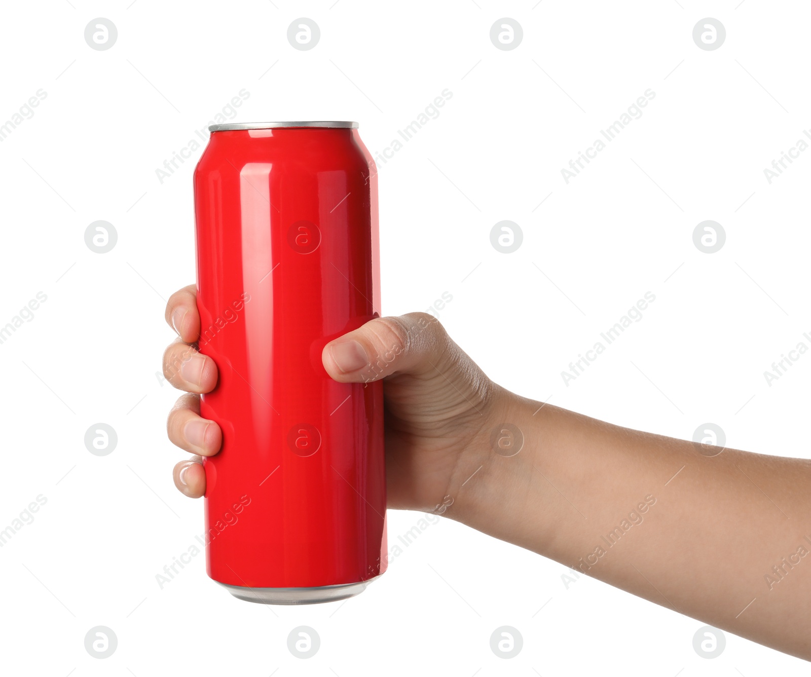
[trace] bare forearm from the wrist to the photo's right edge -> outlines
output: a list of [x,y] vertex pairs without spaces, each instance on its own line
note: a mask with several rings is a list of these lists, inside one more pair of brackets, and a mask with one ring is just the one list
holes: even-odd
[[811,658],[808,461],[732,449],[705,456],[692,442],[500,400],[501,435],[516,426],[523,446],[508,456],[509,440],[499,449],[483,431],[454,473],[448,516]]

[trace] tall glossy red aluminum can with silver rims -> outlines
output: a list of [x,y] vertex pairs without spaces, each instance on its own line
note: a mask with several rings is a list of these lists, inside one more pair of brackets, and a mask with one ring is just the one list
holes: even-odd
[[235,597],[351,597],[386,568],[382,383],[328,341],[380,316],[375,163],[356,122],[209,127],[195,169],[208,576]]

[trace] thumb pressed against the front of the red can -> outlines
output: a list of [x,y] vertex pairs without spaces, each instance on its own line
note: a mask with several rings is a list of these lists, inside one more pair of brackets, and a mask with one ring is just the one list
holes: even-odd
[[369,383],[394,373],[436,370],[452,341],[432,315],[375,318],[324,346],[324,369],[341,383]]

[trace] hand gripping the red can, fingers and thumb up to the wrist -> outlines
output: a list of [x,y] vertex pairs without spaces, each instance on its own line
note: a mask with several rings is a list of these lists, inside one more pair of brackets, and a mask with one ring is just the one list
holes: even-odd
[[[194,346],[200,335],[195,285],[169,298],[165,319],[178,339],[164,353],[164,375],[186,391],[169,412],[167,431],[172,443],[194,454],[174,466],[174,483],[198,498],[205,493],[202,457],[220,450],[222,433],[200,417],[200,394],[217,385],[217,366]],[[444,512],[453,503],[450,487],[459,486],[457,474],[467,477],[478,467],[465,459],[486,447],[505,391],[425,313],[372,319],[328,343],[322,362],[341,383],[384,379],[388,507]]]

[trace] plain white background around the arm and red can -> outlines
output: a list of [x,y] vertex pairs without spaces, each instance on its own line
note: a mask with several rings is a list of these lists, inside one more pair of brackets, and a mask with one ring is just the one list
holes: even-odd
[[[763,169],[811,124],[811,8],[739,1],[4,3],[0,120],[47,96],[0,143],[0,325],[37,292],[47,301],[0,345],[0,529],[47,503],[0,549],[0,670],[807,674],[729,633],[719,658],[701,658],[703,623],[586,577],[566,589],[563,565],[447,520],[345,603],[238,602],[203,555],[156,582],[203,530],[202,503],[171,481],[179,393],[157,377],[165,299],[194,281],[201,149],[162,184],[156,169],[242,88],[235,120],[358,120],[372,152],[448,88],[440,116],[379,165],[384,314],[447,291],[448,331],[515,392],[686,439],[715,422],[729,446],[809,457],[811,355],[771,387],[763,372],[811,331],[811,152],[771,184]],[[523,28],[511,51],[489,37],[504,16]],[[109,50],[84,41],[96,17],[118,28]],[[310,51],[286,39],[298,17],[320,26]],[[704,17],[726,27],[720,49],[694,44]],[[567,185],[560,169],[648,88],[642,118]],[[727,234],[712,255],[692,238],[708,219]],[[97,220],[118,232],[103,255],[84,243]],[[490,243],[502,220],[523,231],[513,254]],[[642,321],[564,385],[647,291]],[[84,446],[97,422],[118,433],[109,456]],[[420,517],[389,512],[389,542]],[[84,649],[97,625],[118,636],[105,660]],[[298,625],[320,634],[308,660],[286,646]],[[490,649],[501,625],[524,638],[511,660]]]

